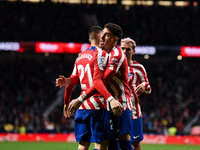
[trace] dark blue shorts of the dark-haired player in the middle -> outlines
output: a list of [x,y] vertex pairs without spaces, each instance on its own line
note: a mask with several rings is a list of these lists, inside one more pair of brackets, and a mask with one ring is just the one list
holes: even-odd
[[114,131],[113,138],[117,138],[119,135],[127,133],[131,135],[131,115],[132,111],[129,109],[122,111],[121,116],[116,116],[113,113],[111,114]]

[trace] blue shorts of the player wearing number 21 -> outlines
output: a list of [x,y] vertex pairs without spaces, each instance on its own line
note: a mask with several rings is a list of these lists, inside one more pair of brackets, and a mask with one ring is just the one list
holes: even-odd
[[106,109],[78,109],[74,118],[76,141],[102,142],[112,139],[110,112]]

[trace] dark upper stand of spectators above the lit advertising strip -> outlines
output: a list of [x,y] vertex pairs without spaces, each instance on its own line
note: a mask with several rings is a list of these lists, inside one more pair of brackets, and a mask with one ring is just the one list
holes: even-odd
[[[88,29],[113,22],[139,45],[200,45],[199,6],[0,2],[0,41],[88,42]],[[108,15],[109,14],[109,15]],[[79,35],[79,36],[76,36]]]

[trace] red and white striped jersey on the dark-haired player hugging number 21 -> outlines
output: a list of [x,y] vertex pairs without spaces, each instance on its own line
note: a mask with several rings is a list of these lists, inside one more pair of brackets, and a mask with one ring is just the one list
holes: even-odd
[[[95,88],[107,100],[111,95],[121,102],[123,110],[132,109],[131,95],[128,86],[128,63],[125,54],[120,48],[113,47],[109,53],[108,65],[102,66],[103,50],[95,51],[95,70],[93,83]],[[98,54],[97,54],[98,53]],[[95,82],[102,79],[103,82]],[[104,84],[107,86],[105,88]]]

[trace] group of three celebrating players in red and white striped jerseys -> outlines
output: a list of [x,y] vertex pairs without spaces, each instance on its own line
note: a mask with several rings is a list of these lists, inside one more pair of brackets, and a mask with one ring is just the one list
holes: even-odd
[[[136,43],[121,40],[120,26],[107,23],[104,29],[89,29],[91,46],[75,61],[69,78],[59,76],[56,86],[66,85],[64,116],[75,112],[74,129],[78,150],[141,150],[142,113],[139,96],[151,93],[143,65],[132,60]],[[71,101],[75,84],[82,92]]]

